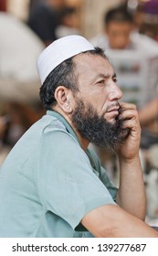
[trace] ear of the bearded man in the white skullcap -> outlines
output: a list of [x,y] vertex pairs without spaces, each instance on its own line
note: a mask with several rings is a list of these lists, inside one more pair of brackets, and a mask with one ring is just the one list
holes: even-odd
[[58,86],[55,91],[55,99],[58,102],[58,105],[67,113],[72,112],[71,95],[72,92],[64,86]]

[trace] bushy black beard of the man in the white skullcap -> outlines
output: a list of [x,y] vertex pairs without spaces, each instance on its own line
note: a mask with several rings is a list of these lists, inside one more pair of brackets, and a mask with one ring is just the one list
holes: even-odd
[[124,136],[121,136],[122,122],[118,118],[114,123],[107,122],[90,103],[84,104],[78,99],[71,120],[80,135],[91,144],[116,150],[124,141]]

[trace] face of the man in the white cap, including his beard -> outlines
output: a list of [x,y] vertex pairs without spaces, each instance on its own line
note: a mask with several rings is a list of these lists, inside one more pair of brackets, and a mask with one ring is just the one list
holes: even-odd
[[71,122],[80,135],[97,145],[121,143],[119,100],[122,93],[107,59],[80,54],[74,58],[79,92],[74,94]]

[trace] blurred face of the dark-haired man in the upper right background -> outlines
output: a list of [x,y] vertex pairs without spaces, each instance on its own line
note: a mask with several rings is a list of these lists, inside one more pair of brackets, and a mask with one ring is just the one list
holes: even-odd
[[110,47],[113,49],[124,49],[130,44],[132,24],[129,22],[112,21],[106,27],[106,34],[109,38]]

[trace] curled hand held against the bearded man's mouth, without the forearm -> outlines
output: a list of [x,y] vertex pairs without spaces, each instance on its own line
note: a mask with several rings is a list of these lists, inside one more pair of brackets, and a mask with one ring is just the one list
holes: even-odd
[[138,157],[141,141],[141,126],[136,106],[132,103],[121,102],[119,119],[122,123],[124,143],[117,150],[119,157],[131,160]]

